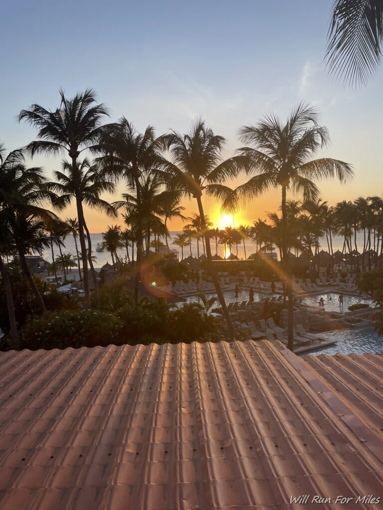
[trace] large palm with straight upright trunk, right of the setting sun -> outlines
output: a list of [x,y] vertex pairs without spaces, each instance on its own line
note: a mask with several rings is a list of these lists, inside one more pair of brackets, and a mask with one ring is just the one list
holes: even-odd
[[237,188],[245,200],[249,200],[269,188],[281,189],[282,210],[282,265],[289,296],[288,346],[293,349],[293,288],[288,258],[288,217],[286,196],[288,191],[302,192],[305,200],[316,200],[319,189],[313,180],[335,177],[342,183],[352,175],[351,166],[331,158],[312,160],[321,147],[329,143],[327,129],[317,123],[317,112],[301,103],[288,121],[282,124],[275,115],[262,119],[256,126],[244,126],[241,140],[252,147],[240,149],[251,159],[249,173],[255,174]]

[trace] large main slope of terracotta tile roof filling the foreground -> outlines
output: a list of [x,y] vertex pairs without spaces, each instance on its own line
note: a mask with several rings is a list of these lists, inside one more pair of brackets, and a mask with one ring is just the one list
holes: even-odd
[[[292,356],[251,341],[1,353],[0,508],[271,510],[304,494],[379,495],[383,464],[314,389],[312,362]],[[356,377],[373,397],[369,363]]]

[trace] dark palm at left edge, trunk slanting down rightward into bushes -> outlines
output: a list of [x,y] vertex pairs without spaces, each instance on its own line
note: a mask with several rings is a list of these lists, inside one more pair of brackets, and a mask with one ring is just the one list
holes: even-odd
[[55,200],[56,196],[47,189],[41,168],[26,168],[24,161],[22,150],[14,150],[6,156],[4,145],[0,145],[0,210],[15,242],[21,270],[29,282],[40,310],[45,312],[44,301],[25,258],[27,240],[22,238],[18,220],[26,215],[38,221],[57,219],[54,213],[41,207],[44,202]]

